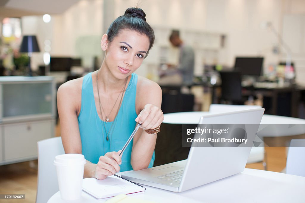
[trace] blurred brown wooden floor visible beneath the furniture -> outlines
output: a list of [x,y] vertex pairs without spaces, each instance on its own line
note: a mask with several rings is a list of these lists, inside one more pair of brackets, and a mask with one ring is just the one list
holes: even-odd
[[[59,128],[56,128],[59,135]],[[281,172],[286,166],[285,147],[265,147],[267,170]],[[262,162],[246,168],[263,170]],[[25,194],[24,200],[0,200],[4,203],[32,203],[36,200],[37,160],[0,166],[0,194]]]

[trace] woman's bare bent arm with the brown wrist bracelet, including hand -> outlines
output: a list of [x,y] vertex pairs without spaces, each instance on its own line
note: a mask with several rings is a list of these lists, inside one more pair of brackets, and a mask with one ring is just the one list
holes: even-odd
[[157,128],[164,117],[160,109],[162,91],[160,86],[148,79],[139,77],[137,85],[136,108],[138,117],[136,121],[141,124],[133,140],[131,152],[131,166],[140,170],[149,166],[156,145],[157,135],[151,135],[144,129]]

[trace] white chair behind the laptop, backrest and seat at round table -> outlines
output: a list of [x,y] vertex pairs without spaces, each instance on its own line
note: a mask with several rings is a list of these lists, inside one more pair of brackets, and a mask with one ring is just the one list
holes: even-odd
[[[231,105],[231,104],[211,104],[211,113],[225,113],[232,111],[241,111],[249,109],[261,108],[259,105]],[[265,149],[264,147],[252,147],[247,163],[257,163],[264,160]],[[263,163],[264,169],[266,169],[266,163]]]

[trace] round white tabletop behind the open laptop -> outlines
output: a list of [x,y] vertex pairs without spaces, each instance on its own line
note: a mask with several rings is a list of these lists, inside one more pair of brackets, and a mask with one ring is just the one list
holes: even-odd
[[[210,115],[207,111],[177,112],[164,114],[163,123],[196,124],[201,116]],[[215,113],[214,113],[215,114]],[[228,123],[230,123],[228,121]],[[300,135],[305,133],[305,119],[264,114],[258,129],[258,136],[274,137]],[[278,124],[278,125],[270,125]],[[280,124],[280,125],[279,125]],[[296,124],[296,125],[294,125]]]

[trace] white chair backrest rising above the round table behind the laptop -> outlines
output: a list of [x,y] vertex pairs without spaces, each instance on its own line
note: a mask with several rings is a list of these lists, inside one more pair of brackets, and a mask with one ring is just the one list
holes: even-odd
[[211,113],[225,113],[225,112],[257,109],[257,108],[261,108],[261,106],[260,105],[211,104],[209,111]]

